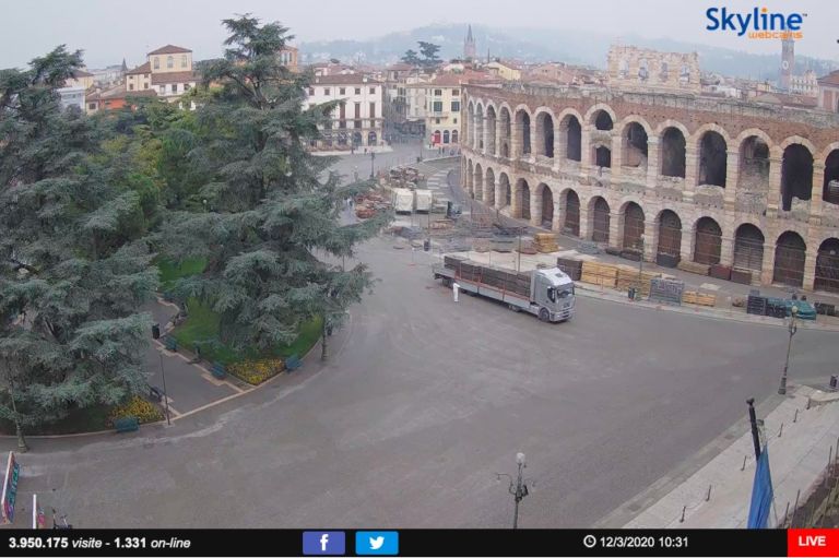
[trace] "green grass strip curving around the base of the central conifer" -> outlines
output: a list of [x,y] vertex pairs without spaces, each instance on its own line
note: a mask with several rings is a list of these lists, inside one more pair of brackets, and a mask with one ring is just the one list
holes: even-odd
[[[179,345],[190,351],[194,351],[196,341],[205,341],[209,339],[218,339],[220,317],[209,307],[200,304],[196,299],[187,301],[189,316],[186,321],[175,328],[170,333]],[[268,353],[259,353],[256,349],[236,352],[222,344],[215,346],[204,345],[201,347],[201,356],[213,363],[218,361],[223,365],[229,365],[240,360],[258,359],[267,356],[291,356],[297,355],[300,358],[318,342],[321,333],[321,319],[317,318],[308,321],[300,327],[299,334],[294,343],[289,345],[279,345]]]

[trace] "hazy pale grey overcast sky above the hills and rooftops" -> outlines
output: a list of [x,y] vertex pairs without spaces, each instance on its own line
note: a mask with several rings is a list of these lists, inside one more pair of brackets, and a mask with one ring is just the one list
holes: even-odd
[[706,10],[722,5],[737,12],[767,5],[770,11],[806,13],[796,54],[839,61],[836,0],[5,0],[0,4],[0,68],[23,67],[62,43],[83,49],[90,68],[119,63],[123,57],[133,67],[145,61],[145,52],[166,44],[191,48],[196,59],[213,58],[222,52],[221,20],[244,12],[282,22],[297,41],[365,39],[428,23],[477,23],[557,33],[591,29],[615,38],[637,34],[780,52],[777,40],[706,31]]

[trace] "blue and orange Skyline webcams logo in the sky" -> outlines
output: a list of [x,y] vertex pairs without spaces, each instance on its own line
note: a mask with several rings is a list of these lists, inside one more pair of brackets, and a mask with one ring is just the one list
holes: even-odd
[[708,31],[733,31],[738,37],[773,39],[801,39],[804,32],[801,25],[806,13],[770,12],[768,8],[754,8],[751,12],[732,12],[728,8],[709,8],[705,12],[708,17]]

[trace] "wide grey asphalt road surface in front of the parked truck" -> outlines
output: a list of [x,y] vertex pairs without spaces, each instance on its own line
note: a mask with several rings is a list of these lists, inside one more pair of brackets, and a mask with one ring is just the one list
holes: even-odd
[[[19,500],[82,527],[505,527],[495,473],[522,451],[520,526],[588,526],[777,397],[782,328],[590,298],[544,324],[454,304],[399,242],[359,249],[380,281],[327,367],[168,428],[32,440]],[[791,383],[835,372],[834,337],[795,336]]]

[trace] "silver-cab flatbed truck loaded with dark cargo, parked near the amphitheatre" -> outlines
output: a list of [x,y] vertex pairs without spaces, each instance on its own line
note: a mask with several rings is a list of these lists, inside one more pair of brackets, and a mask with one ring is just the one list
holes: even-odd
[[444,264],[433,266],[434,278],[507,305],[510,310],[527,311],[543,322],[564,322],[574,317],[574,281],[559,268],[516,272],[484,265],[465,258],[446,256]]

